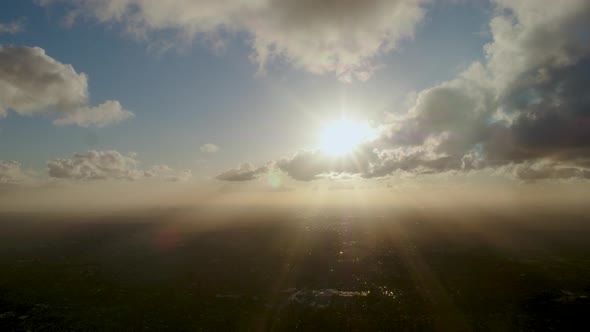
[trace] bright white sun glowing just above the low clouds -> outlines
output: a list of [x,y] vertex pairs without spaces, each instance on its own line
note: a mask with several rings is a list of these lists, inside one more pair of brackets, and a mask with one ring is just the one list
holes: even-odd
[[366,122],[340,119],[325,126],[320,136],[320,149],[333,156],[353,152],[359,144],[375,138],[375,130]]

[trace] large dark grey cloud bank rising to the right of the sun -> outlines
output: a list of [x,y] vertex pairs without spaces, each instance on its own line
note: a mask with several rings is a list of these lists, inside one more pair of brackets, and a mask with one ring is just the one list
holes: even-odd
[[484,63],[415,95],[380,137],[344,158],[303,151],[296,180],[511,169],[523,180],[588,178],[590,2],[495,1]]

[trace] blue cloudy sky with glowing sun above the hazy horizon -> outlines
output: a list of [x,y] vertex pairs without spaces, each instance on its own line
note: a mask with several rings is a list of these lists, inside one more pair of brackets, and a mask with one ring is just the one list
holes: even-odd
[[588,22],[585,0],[5,0],[0,188],[584,186]]

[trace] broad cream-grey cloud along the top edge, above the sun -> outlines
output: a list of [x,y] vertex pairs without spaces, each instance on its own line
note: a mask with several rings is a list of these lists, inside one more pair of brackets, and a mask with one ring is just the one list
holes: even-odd
[[[128,33],[176,32],[181,40],[245,31],[251,58],[264,70],[275,58],[342,80],[367,79],[375,57],[413,37],[428,0],[38,0],[71,5],[68,20],[90,16],[123,23]],[[153,34],[152,34],[153,35]],[[149,39],[152,39],[151,37]]]

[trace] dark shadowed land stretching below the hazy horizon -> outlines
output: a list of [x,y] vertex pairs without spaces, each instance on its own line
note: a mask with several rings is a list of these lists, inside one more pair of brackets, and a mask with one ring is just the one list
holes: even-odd
[[3,214],[0,329],[574,330],[589,238],[576,209]]

